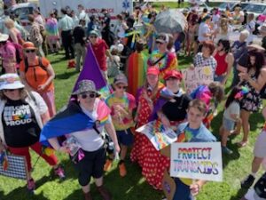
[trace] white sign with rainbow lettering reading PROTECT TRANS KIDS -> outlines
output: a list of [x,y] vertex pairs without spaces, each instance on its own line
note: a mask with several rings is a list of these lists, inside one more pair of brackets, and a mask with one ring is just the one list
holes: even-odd
[[172,177],[223,181],[220,142],[176,142],[170,159]]

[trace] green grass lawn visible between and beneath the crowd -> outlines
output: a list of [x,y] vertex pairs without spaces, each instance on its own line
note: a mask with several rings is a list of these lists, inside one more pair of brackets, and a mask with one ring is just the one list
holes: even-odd
[[[175,4],[176,5],[176,4]],[[62,108],[68,100],[72,91],[77,73],[74,69],[66,69],[66,60],[62,60],[64,54],[50,55],[48,59],[56,71],[56,105]],[[180,68],[187,67],[191,58],[179,56]],[[229,85],[229,84],[228,84]],[[212,123],[212,132],[218,134],[222,123],[223,106],[219,107],[219,114]],[[74,123],[74,122],[73,122]],[[239,200],[245,191],[240,190],[239,181],[250,172],[250,164],[253,157],[254,140],[262,127],[263,119],[260,113],[254,114],[250,118],[251,132],[249,143],[246,148],[237,148],[235,144],[241,140],[241,136],[232,138],[229,142],[229,148],[234,150],[232,156],[223,156],[223,182],[209,182],[200,192],[198,200]],[[72,163],[68,157],[58,154],[59,160],[66,170],[66,180],[59,182],[53,176],[51,167],[40,159],[35,165],[33,177],[36,180],[37,189],[35,195],[27,193],[26,183],[23,180],[14,180],[11,178],[0,177],[0,200],[78,200],[82,199],[82,191],[76,179],[77,174],[74,171]],[[32,154],[32,163],[35,164],[37,156]],[[140,168],[137,164],[127,161],[128,175],[125,178],[120,177],[116,164],[111,172],[106,173],[106,187],[112,191],[113,200],[160,200],[162,192],[154,190],[149,186],[141,176]],[[95,200],[100,200],[95,186],[92,186],[92,195]]]

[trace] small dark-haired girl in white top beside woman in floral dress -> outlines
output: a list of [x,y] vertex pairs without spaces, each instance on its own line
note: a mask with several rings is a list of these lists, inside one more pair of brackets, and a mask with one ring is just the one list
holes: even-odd
[[242,98],[242,96],[242,90],[238,87],[234,87],[225,102],[223,124],[220,127],[223,154],[231,155],[233,153],[230,148],[226,147],[226,143],[228,136],[235,129],[235,124],[241,124],[239,100]]

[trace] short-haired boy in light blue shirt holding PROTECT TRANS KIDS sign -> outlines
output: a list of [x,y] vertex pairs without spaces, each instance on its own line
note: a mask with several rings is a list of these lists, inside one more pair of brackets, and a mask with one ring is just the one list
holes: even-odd
[[[187,109],[187,122],[177,127],[177,142],[214,142],[215,136],[202,123],[207,114],[207,107],[202,100],[192,100]],[[176,178],[176,193],[173,200],[193,199],[199,194],[205,180]]]

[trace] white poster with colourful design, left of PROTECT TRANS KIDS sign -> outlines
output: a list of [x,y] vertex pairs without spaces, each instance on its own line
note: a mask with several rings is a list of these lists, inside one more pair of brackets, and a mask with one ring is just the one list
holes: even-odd
[[139,127],[136,132],[141,132],[153,143],[154,148],[160,150],[176,141],[176,132],[165,128],[159,120],[150,122]]

